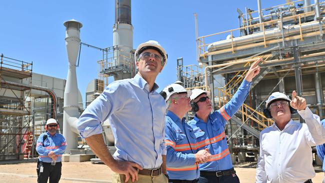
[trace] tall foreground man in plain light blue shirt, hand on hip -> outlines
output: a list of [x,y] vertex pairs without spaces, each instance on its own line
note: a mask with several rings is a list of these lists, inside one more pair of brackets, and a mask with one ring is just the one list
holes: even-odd
[[[164,145],[166,103],[154,82],[167,54],[154,40],[135,50],[137,74],[117,80],[83,111],[77,128],[91,150],[115,172],[112,182],[167,182]],[[110,155],[101,123],[109,120],[116,151]]]

